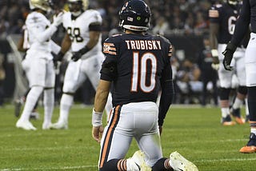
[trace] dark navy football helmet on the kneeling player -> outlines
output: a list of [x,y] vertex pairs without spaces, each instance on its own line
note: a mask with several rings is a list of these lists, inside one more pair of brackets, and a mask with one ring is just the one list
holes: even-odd
[[150,27],[150,7],[142,0],[130,0],[119,11],[119,26],[122,30],[146,31]]

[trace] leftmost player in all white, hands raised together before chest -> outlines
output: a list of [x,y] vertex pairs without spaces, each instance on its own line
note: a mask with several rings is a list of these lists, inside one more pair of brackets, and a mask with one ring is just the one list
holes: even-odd
[[50,38],[62,23],[62,13],[54,17],[51,24],[46,18],[50,10],[48,0],[30,0],[32,12],[26,18],[28,41],[30,49],[26,51],[26,60],[30,63],[27,71],[30,80],[30,92],[26,97],[26,104],[22,116],[18,119],[16,127],[26,130],[36,130],[29,121],[30,113],[34,109],[38,97],[43,92],[44,121],[42,129],[49,129],[54,109],[54,62],[50,54]]

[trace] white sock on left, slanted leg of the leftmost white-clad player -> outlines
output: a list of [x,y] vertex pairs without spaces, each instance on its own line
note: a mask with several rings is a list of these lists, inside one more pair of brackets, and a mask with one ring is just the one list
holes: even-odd
[[36,104],[38,98],[40,97],[40,94],[42,93],[42,89],[42,86],[33,86],[30,89],[30,92],[26,96],[26,103],[22,111],[22,116],[20,117],[20,120],[29,121],[30,113],[32,113],[34,105]]

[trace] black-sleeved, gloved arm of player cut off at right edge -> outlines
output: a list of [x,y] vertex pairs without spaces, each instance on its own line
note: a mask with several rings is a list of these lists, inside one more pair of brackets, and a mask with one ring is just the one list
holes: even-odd
[[239,18],[235,24],[234,34],[230,42],[226,46],[226,50],[222,52],[225,56],[223,60],[223,66],[226,70],[233,70],[233,67],[230,66],[230,63],[233,58],[234,51],[237,49],[239,43],[242,41],[242,38],[246,35],[250,25],[250,1],[242,1],[242,9],[239,15]]

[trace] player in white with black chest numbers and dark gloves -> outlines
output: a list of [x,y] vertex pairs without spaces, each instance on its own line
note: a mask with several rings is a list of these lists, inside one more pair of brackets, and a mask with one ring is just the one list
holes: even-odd
[[[74,93],[80,85],[90,79],[96,89],[104,55],[102,54],[102,17],[97,10],[87,10],[86,0],[68,0],[69,10],[63,16],[63,26],[66,36],[62,40],[62,50],[55,58],[61,61],[68,50],[73,53],[64,78],[62,98],[60,102],[60,116],[52,129],[67,129],[70,107],[74,101]],[[110,97],[110,96],[109,96]],[[106,113],[112,107],[109,98]]]

